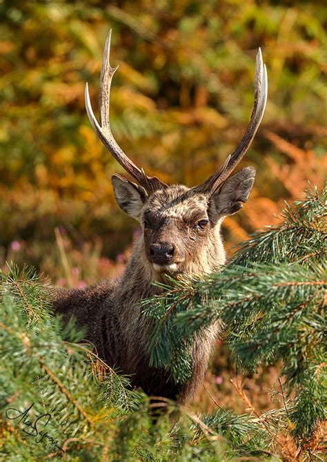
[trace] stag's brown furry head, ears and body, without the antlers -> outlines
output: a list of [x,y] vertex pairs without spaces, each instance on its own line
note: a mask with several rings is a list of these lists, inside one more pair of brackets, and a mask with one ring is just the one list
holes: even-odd
[[[95,345],[97,354],[110,367],[130,375],[133,387],[141,387],[152,396],[178,397],[182,403],[194,397],[221,326],[212,325],[195,341],[192,378],[176,385],[164,369],[148,365],[146,346],[151,327],[141,316],[139,301],[159,293],[151,282],[166,280],[165,273],[198,276],[225,263],[221,222],[246,202],[254,176],[252,167],[239,171],[210,199],[182,185],[148,195],[141,186],[119,175],[112,177],[119,206],[140,222],[143,231],[130,262],[115,282],[102,281],[86,289],[58,289],[54,308],[64,322],[74,316],[78,325],[86,325],[86,339]],[[151,248],[163,245],[171,247],[172,255],[151,254]],[[158,258],[167,262],[161,264]]]

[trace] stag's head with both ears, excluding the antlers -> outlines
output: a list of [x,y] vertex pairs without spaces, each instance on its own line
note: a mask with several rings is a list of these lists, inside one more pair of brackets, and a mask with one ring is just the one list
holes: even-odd
[[178,184],[148,195],[119,175],[112,185],[121,209],[141,224],[144,257],[155,272],[192,274],[192,268],[201,273],[224,263],[221,222],[241,209],[254,177],[247,167],[210,198]]

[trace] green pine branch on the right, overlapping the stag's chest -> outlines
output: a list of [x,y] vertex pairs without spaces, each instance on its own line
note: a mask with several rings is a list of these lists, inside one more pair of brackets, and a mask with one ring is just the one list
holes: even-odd
[[282,362],[287,393],[296,393],[293,434],[308,441],[325,416],[325,217],[326,190],[308,191],[294,211],[286,207],[284,222],[243,244],[223,271],[201,280],[181,278],[166,296],[145,300],[143,312],[155,325],[148,347],[152,365],[184,381],[190,358],[179,360],[176,374],[177,354],[222,322],[242,368]]

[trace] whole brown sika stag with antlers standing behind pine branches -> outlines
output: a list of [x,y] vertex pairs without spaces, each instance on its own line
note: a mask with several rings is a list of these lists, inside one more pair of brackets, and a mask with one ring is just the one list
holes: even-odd
[[[255,102],[250,124],[232,155],[199,186],[168,185],[149,177],[118,146],[109,122],[109,97],[116,68],[109,64],[110,36],[106,41],[100,77],[97,122],[86,84],[86,111],[101,142],[137,183],[120,175],[112,176],[115,198],[120,208],[141,225],[130,262],[120,280],[104,281],[86,289],[58,289],[54,307],[64,322],[74,316],[86,325],[86,338],[110,366],[130,375],[132,387],[141,387],[153,396],[190,401],[204,378],[219,326],[197,340],[192,347],[193,375],[184,385],[176,385],[164,369],[148,365],[146,345],[150,327],[141,317],[139,301],[159,289],[153,280],[165,274],[188,276],[208,273],[225,263],[221,222],[239,211],[255,180],[255,169],[246,167],[232,177],[232,170],[244,156],[259,127],[267,99],[267,73],[259,49],[255,66]],[[229,177],[229,178],[228,178]]]

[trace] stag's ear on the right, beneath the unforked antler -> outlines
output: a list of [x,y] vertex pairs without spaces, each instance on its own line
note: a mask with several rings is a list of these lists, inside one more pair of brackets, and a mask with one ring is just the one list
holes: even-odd
[[215,220],[236,213],[243,207],[255,182],[254,167],[246,167],[230,177],[210,198],[210,211]]

